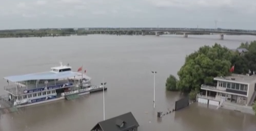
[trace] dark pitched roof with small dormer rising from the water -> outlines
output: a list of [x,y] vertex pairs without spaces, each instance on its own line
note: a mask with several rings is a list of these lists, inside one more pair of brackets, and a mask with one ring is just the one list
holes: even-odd
[[[121,125],[124,124],[122,127]],[[91,130],[100,127],[103,131],[125,131],[140,126],[131,112],[97,123]]]

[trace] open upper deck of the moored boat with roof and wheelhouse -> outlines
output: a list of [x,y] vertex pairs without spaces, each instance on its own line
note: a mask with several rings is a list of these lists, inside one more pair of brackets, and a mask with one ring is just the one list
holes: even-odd
[[[73,86],[74,81],[71,81],[71,79],[76,78],[83,78],[86,81],[91,80],[89,76],[73,72],[70,66],[63,66],[62,64],[59,67],[51,68],[51,71],[48,72],[4,77],[8,83],[8,86],[5,86],[5,90],[14,95]],[[32,84],[30,83],[31,81]],[[9,85],[9,82],[15,84]]]

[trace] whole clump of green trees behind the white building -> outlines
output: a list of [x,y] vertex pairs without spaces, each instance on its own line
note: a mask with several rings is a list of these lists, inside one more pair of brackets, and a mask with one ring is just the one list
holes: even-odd
[[[232,73],[256,71],[256,41],[241,43],[237,49],[242,48],[248,51],[241,53],[218,43],[200,47],[186,56],[184,65],[178,71],[179,79],[170,74],[166,80],[166,90],[189,93],[189,97],[195,99],[202,84],[212,85],[214,77],[231,75],[232,66]],[[253,109],[256,111],[256,104]]]

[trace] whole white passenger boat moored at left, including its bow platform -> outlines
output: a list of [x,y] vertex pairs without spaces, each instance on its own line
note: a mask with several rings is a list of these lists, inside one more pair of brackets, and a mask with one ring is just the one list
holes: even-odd
[[[82,67],[78,69],[81,71]],[[4,77],[5,91],[12,106],[32,106],[60,99],[106,90],[104,86],[91,86],[91,78],[84,73],[73,72],[70,66],[52,67],[48,72]],[[12,84],[11,84],[12,83]],[[71,97],[72,96],[72,97]]]

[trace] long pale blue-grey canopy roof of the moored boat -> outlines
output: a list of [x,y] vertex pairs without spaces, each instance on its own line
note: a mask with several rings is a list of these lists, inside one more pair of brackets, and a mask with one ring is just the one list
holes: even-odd
[[[65,71],[65,72],[41,72],[41,73],[33,73],[33,74],[24,74],[24,75],[13,75],[4,77],[4,79],[10,82],[23,82],[29,80],[56,80],[59,78],[68,78],[74,76],[80,76],[81,73],[72,72],[72,71]],[[85,76],[85,75],[84,75]],[[88,76],[85,76],[85,78]],[[89,78],[89,77],[88,77]]]

